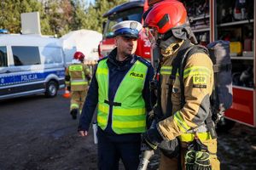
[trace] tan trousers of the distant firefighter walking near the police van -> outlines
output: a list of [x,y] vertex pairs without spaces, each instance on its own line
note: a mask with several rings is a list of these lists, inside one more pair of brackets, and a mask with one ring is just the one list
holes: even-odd
[[79,109],[79,111],[81,112],[83,109],[86,95],[87,95],[87,90],[71,91],[70,111],[73,109]]

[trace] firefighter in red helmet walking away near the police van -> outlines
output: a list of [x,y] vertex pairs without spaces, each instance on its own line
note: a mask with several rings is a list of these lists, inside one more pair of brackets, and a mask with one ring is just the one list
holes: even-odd
[[67,90],[71,92],[70,114],[73,119],[77,119],[82,111],[90,77],[90,69],[84,65],[84,54],[76,52],[65,74]]

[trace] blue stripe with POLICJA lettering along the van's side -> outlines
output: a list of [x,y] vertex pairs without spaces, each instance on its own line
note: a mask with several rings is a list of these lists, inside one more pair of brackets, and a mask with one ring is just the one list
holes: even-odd
[[17,72],[17,74],[5,74],[5,76],[0,76],[0,87],[7,85],[15,85],[25,82],[37,82],[44,81],[46,77],[50,74],[56,75],[58,78],[65,77],[65,71],[45,71],[45,72],[32,72],[27,74],[22,74]]

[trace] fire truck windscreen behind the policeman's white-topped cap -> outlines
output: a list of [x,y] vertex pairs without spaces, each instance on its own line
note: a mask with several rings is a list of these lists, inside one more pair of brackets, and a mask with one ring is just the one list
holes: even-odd
[[136,20],[142,22],[143,8],[131,8],[121,12],[119,14],[114,14],[109,17],[108,23],[104,29],[103,37],[113,37],[112,26],[123,21],[123,20]]

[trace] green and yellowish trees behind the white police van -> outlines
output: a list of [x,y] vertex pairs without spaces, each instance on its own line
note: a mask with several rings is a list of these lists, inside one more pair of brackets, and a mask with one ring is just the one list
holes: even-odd
[[20,14],[38,11],[41,32],[46,35],[66,34],[68,31],[89,29],[102,31],[105,14],[110,8],[126,0],[96,0],[94,5],[85,8],[83,0],[9,0],[0,1],[0,28],[11,33],[19,33]]

